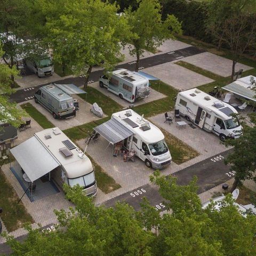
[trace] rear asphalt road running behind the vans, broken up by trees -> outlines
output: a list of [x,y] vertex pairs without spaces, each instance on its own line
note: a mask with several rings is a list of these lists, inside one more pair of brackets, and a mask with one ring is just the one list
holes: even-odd
[[[154,55],[152,57],[141,59],[139,69],[142,70],[144,68],[161,65],[166,62],[182,59],[182,58],[189,57],[189,56],[199,54],[202,52],[204,52],[204,51],[201,49],[198,49],[197,47],[189,46],[189,47],[177,50],[177,51]],[[129,70],[135,70],[135,61],[117,65],[116,68],[125,68],[125,69],[129,69]],[[99,81],[99,77],[102,74],[103,74],[102,70],[92,72],[89,77],[89,83],[94,83],[94,82]],[[41,78],[41,79],[43,79],[43,78]],[[82,86],[83,82],[84,82],[83,77],[70,77],[67,79],[60,80],[60,81],[55,81],[54,83],[75,84],[76,86]],[[47,84],[49,84],[49,83],[47,83]],[[17,92],[13,93],[10,96],[10,101],[20,103],[23,101],[33,99],[34,94],[38,90],[38,88],[41,86],[44,86],[44,85],[46,85],[46,84],[18,90]]]

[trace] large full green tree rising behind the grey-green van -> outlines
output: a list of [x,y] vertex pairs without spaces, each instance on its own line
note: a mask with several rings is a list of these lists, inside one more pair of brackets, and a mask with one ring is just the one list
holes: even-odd
[[[45,1],[45,11],[58,8],[60,1]],[[111,70],[123,58],[119,42],[129,35],[126,20],[116,15],[115,4],[100,0],[63,1],[59,16],[46,14],[47,41],[54,59],[63,59],[75,74],[84,76],[86,89],[93,66]],[[53,6],[53,7],[52,7]],[[55,6],[55,7],[54,7]]]

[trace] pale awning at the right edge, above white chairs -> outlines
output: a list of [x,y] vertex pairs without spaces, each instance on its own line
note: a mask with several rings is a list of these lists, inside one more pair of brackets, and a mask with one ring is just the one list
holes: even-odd
[[256,99],[254,98],[256,93],[255,91],[251,90],[251,77],[256,80],[256,77],[254,76],[246,76],[243,78],[239,78],[233,83],[228,84],[222,88],[229,92],[233,92],[234,94],[237,94],[245,99],[256,101]]

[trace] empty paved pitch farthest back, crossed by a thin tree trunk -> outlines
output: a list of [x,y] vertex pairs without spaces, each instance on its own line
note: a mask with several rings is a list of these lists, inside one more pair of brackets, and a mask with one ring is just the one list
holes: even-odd
[[[220,76],[230,76],[232,71],[232,61],[210,52],[203,52],[194,56],[186,57],[182,59],[190,64],[193,64],[199,68],[203,68],[211,71]],[[242,63],[237,62],[235,71],[243,69],[244,71],[252,69],[252,67],[246,66]]]

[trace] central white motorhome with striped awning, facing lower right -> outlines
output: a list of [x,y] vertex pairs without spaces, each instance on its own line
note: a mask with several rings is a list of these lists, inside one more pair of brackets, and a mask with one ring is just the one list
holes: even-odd
[[147,167],[163,169],[171,164],[170,151],[164,140],[164,134],[158,127],[132,109],[114,113],[111,119],[122,123],[134,133],[127,139],[126,147],[135,150],[136,156],[145,162]]

